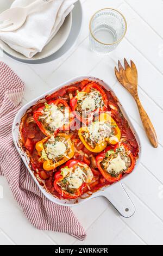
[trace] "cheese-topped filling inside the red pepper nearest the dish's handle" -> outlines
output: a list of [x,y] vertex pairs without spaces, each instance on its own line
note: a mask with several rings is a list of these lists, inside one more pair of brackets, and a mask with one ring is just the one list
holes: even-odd
[[[117,164],[121,162],[120,168],[116,170],[112,168],[112,162],[117,162]],[[103,170],[115,178],[121,173],[125,173],[130,166],[131,159],[123,147],[118,148],[116,152],[114,150],[108,151],[101,162]]]

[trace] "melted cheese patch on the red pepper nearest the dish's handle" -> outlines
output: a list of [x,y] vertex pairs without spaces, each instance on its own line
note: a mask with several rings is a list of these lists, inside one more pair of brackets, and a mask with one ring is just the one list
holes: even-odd
[[115,159],[112,159],[111,162],[109,163],[109,166],[107,168],[108,173],[110,173],[112,170],[116,174],[119,174],[122,172],[122,170],[126,170],[126,162],[121,159],[120,154]]

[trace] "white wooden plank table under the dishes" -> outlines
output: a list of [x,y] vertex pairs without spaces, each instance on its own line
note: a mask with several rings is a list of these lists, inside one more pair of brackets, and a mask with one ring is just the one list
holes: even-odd
[[[84,25],[76,47],[66,56],[42,65],[21,64],[8,56],[7,63],[26,83],[23,104],[74,76],[91,74],[110,84],[123,103],[142,142],[139,168],[124,181],[136,206],[133,217],[125,219],[104,198],[93,199],[73,211],[87,230],[80,242],[74,237],[36,230],[23,216],[0,177],[0,245],[163,245],[163,1],[82,0]],[[89,48],[88,24],[95,11],[111,7],[126,16],[126,38],[110,56],[101,57]],[[117,60],[133,59],[139,71],[139,94],[155,126],[158,149],[149,144],[134,100],[114,75]]]

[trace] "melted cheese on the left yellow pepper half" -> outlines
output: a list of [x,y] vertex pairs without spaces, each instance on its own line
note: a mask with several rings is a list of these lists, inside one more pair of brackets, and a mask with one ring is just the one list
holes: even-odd
[[47,144],[46,153],[49,159],[59,157],[66,153],[66,145],[64,142],[56,142],[55,144]]

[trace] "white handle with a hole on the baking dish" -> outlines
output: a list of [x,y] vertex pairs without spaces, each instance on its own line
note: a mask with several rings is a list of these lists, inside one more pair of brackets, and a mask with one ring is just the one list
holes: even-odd
[[124,218],[129,218],[135,214],[135,206],[131,202],[122,182],[117,182],[110,186],[108,190],[102,193],[102,196],[107,198]]

